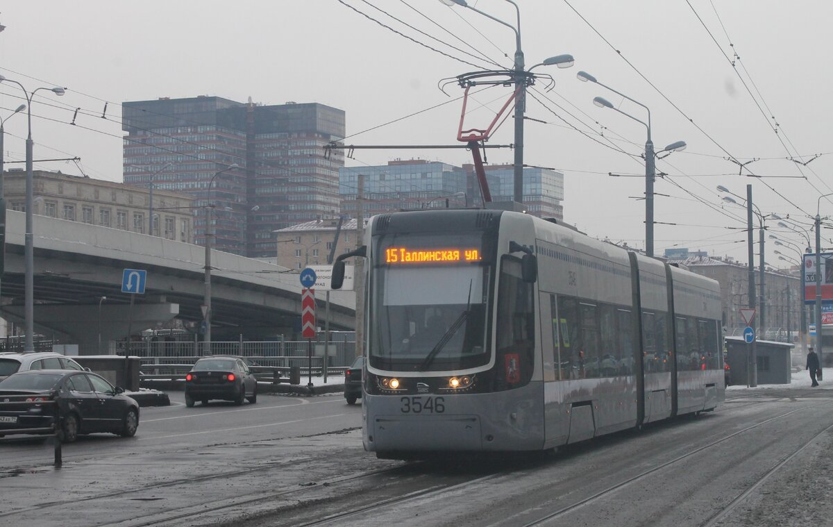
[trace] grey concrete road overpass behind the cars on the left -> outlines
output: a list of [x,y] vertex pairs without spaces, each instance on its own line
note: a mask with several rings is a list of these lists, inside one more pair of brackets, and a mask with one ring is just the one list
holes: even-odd
[[[147,234],[35,215],[34,324],[40,334],[98,353],[102,342],[182,319],[202,322],[205,248]],[[25,214],[7,211],[6,271],[0,280],[0,314],[23,324]],[[122,290],[123,269],[146,269],[145,294]],[[212,252],[212,338],[265,339],[292,334],[301,313],[301,284],[288,269],[231,253]],[[324,325],[318,291],[318,325]],[[99,299],[106,296],[101,303]],[[353,329],[352,292],[330,295],[331,329]],[[99,322],[100,320],[100,322]],[[99,329],[100,328],[100,329]]]

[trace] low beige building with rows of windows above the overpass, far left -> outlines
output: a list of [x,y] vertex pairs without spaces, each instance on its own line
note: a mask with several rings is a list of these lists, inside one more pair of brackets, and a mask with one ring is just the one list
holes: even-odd
[[[2,175],[7,208],[25,211],[26,171],[12,169]],[[148,188],[45,170],[35,170],[32,183],[32,213],[149,233],[152,204],[155,236],[193,243],[194,200],[187,194],[153,189],[150,203]]]

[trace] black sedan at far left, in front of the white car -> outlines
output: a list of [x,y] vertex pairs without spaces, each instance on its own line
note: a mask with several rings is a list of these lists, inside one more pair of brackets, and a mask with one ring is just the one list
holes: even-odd
[[[62,440],[72,443],[78,434],[111,432],[132,437],[139,426],[139,405],[123,389],[115,388],[97,374],[85,371],[37,369],[13,374],[0,381],[0,401],[57,398],[62,422]],[[4,397],[6,396],[6,397]],[[5,399],[9,399],[6,401]],[[0,407],[3,429],[37,429],[52,426],[52,405],[12,404]]]

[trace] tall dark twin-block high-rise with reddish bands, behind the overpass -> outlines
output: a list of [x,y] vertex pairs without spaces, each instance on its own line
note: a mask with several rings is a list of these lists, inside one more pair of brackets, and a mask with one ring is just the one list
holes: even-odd
[[344,157],[324,146],[344,137],[343,110],[160,98],[124,103],[122,119],[125,183],[191,194],[197,243],[210,216],[214,248],[272,256],[272,231],[338,213]]

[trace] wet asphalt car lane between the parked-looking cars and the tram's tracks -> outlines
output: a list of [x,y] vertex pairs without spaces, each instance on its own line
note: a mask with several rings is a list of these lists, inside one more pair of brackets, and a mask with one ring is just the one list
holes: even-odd
[[[136,437],[91,434],[64,444],[65,466],[90,459],[117,460],[137,453],[167,455],[211,444],[327,434],[361,426],[361,407],[348,405],[338,395],[261,396],[257,404],[217,403],[194,408],[185,406],[182,392],[169,395],[171,406],[141,410]],[[51,463],[52,444],[43,438],[0,439],[0,475]]]

